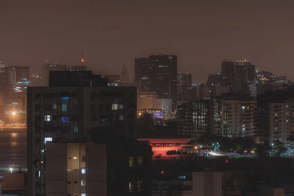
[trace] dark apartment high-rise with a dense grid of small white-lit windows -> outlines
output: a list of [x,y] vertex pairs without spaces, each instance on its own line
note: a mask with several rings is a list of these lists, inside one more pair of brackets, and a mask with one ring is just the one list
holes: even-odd
[[197,99],[193,101],[193,138],[214,134],[214,101]]

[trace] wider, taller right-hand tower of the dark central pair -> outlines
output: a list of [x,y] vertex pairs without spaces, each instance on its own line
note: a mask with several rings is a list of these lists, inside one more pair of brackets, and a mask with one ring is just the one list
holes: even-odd
[[176,109],[176,74],[177,56],[176,55],[150,55],[150,65],[152,67],[151,90],[158,93],[159,98],[171,98],[172,110]]

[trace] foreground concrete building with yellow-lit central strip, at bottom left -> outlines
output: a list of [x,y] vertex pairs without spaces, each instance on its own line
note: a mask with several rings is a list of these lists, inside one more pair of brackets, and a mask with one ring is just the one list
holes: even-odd
[[[46,196],[107,195],[106,146],[46,143]],[[39,172],[35,178],[42,178]],[[40,189],[40,183],[36,183]]]

